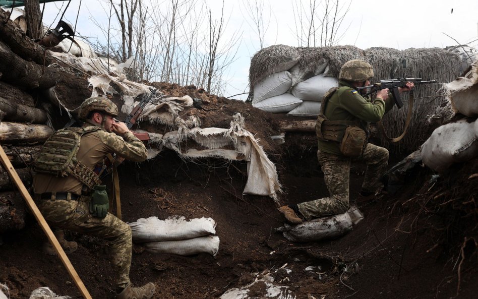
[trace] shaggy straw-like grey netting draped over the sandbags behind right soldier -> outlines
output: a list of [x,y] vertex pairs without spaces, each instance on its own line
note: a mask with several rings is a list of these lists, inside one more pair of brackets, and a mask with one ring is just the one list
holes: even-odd
[[[297,54],[300,56],[298,59],[295,58]],[[274,72],[287,70],[278,68],[285,66],[285,63],[291,64],[293,61],[296,61],[301,72],[311,73],[309,76],[304,76],[304,79],[314,75],[312,74],[314,72],[317,73],[317,69],[325,64],[327,64],[325,75],[338,77],[342,64],[350,59],[358,58],[368,61],[374,67],[375,80],[403,77],[437,80],[439,83],[422,85],[414,91],[416,101],[408,129],[413,134],[406,134],[396,144],[388,144],[388,141],[379,133],[380,142],[392,153],[409,153],[417,149],[433,129],[451,118],[453,111],[445,93],[440,89],[442,84],[461,76],[472,64],[475,54],[476,50],[467,46],[406,50],[383,47],[361,50],[354,46],[302,48],[284,45],[270,46],[258,51],[251,59],[249,99],[252,99],[254,85],[260,79]],[[403,131],[408,109],[406,102],[408,94],[403,94],[402,97],[404,107],[399,110],[393,109],[383,119],[389,137],[397,137]],[[439,119],[439,122],[430,122],[430,119],[435,121]]]

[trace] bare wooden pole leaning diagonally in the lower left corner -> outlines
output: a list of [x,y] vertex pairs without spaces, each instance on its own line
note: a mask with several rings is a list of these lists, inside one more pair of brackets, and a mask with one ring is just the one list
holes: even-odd
[[27,189],[25,188],[25,185],[23,185],[23,182],[20,180],[20,177],[18,176],[17,171],[15,170],[15,168],[13,168],[12,163],[10,162],[9,158],[7,157],[7,154],[5,153],[1,145],[0,145],[0,160],[2,160],[2,164],[5,166],[5,169],[7,169],[7,172],[12,177],[12,180],[14,181],[18,190],[20,191],[23,198],[27,202],[28,207],[30,208],[36,220],[40,224],[40,227],[45,232],[46,236],[48,237],[48,240],[53,245],[53,248],[55,249],[56,253],[58,253],[58,256],[62,260],[63,265],[65,265],[65,268],[67,268],[67,271],[70,274],[70,277],[73,279],[73,281],[75,281],[75,284],[80,290],[81,294],[83,295],[85,299],[92,299],[90,293],[88,292],[85,285],[83,284],[83,281],[81,281],[80,277],[78,276],[78,273],[76,273],[75,268],[73,268],[73,265],[70,262],[70,259],[65,254],[65,251],[63,251],[63,248],[59,245],[58,240],[56,240],[56,237],[53,234],[53,231],[51,231],[50,227],[48,226],[48,223],[46,223],[45,218],[43,218],[43,215],[40,213],[40,210],[38,210],[38,207],[36,206],[32,197],[30,196]]

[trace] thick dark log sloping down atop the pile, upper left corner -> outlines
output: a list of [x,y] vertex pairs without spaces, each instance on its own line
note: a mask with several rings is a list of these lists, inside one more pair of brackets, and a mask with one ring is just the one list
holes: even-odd
[[50,52],[28,38],[25,32],[9,19],[9,12],[0,10],[0,39],[23,59],[48,66],[54,60]]

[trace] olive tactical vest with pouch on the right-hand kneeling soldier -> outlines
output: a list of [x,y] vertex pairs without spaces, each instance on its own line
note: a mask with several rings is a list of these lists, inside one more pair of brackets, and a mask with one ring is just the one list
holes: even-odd
[[358,157],[367,146],[367,133],[360,128],[360,121],[329,121],[325,116],[327,102],[339,88],[340,86],[332,87],[324,94],[315,131],[321,141],[339,142],[343,155]]

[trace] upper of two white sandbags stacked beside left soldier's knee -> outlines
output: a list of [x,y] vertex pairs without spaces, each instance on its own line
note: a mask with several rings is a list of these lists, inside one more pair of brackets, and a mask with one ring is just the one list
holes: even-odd
[[216,222],[212,218],[186,220],[182,217],[169,217],[160,220],[156,216],[140,218],[129,223],[136,243],[186,240],[216,233]]

